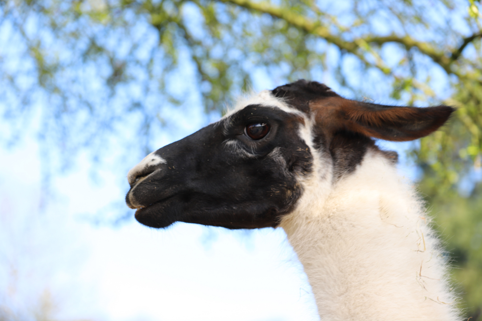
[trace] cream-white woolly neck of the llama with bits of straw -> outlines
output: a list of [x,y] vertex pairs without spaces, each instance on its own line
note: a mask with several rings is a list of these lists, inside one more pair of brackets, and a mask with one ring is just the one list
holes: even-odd
[[327,196],[319,190],[305,188],[281,227],[321,320],[460,320],[423,205],[388,160],[370,152]]

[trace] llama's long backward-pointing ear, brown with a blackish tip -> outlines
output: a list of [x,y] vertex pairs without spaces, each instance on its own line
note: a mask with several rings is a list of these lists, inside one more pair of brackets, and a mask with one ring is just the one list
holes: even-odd
[[412,141],[427,136],[455,111],[444,105],[419,108],[349,102],[340,106],[346,128],[387,141]]

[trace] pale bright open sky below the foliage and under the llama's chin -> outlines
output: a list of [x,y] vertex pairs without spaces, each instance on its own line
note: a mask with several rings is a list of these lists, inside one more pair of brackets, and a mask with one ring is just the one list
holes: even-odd
[[[191,119],[200,122],[174,136],[204,125],[198,113]],[[99,168],[94,183],[90,159],[80,154],[54,178],[54,199],[40,210],[32,136],[3,149],[0,159],[8,169],[0,173],[0,301],[26,320],[49,296],[59,320],[318,320],[281,229],[92,223],[99,209],[123,200],[125,165],[115,160]]]

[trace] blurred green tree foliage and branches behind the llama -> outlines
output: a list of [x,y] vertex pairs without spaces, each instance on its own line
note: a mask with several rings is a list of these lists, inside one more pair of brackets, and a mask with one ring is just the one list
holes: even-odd
[[[0,137],[15,144],[26,126],[38,128],[47,173],[85,147],[100,157],[127,126],[143,138],[143,154],[152,128],[169,126],[163,106],[222,112],[256,79],[272,87],[304,77],[345,96],[457,106],[413,156],[475,316],[480,8],[474,0],[0,0],[0,111],[10,124]],[[55,155],[62,166],[51,165]]]

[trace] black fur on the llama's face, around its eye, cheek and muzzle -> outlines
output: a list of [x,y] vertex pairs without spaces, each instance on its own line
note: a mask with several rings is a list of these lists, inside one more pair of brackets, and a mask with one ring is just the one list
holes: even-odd
[[[268,134],[244,128],[267,123]],[[275,227],[302,193],[300,175],[312,156],[298,135],[299,119],[278,108],[250,105],[219,123],[159,149],[166,160],[132,189],[135,218],[162,228],[175,221],[229,229]],[[156,169],[160,169],[155,171]],[[129,202],[129,194],[126,197]]]

